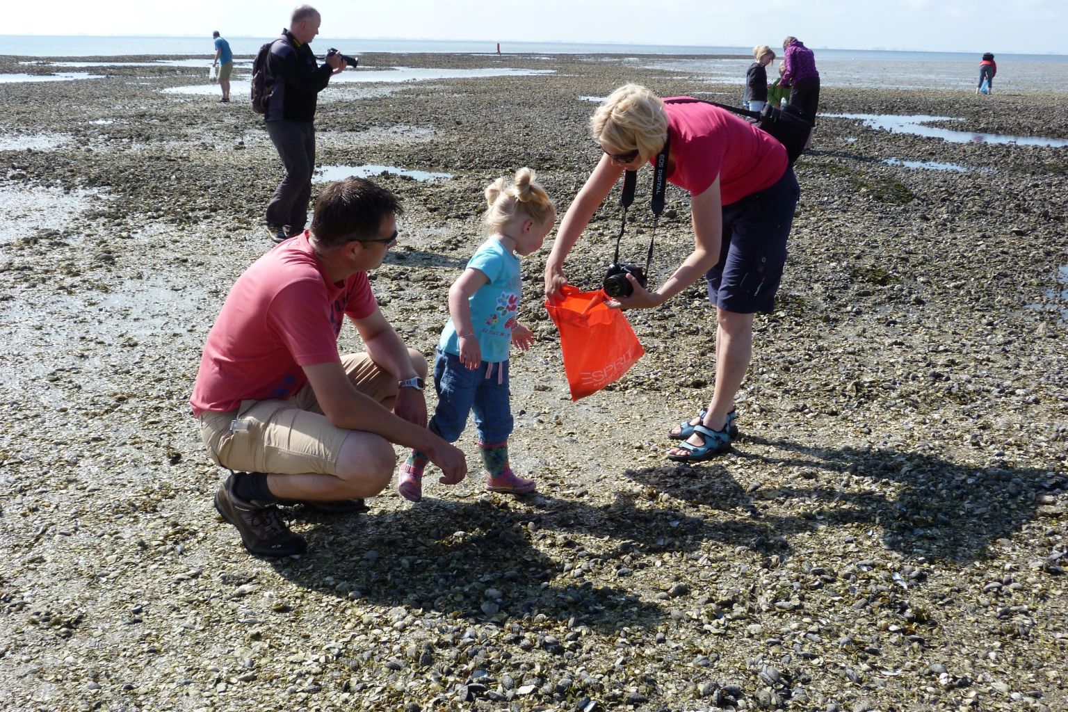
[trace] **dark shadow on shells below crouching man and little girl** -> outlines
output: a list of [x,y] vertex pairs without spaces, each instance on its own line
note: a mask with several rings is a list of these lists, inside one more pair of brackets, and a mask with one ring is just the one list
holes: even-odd
[[[531,499],[539,508],[555,509],[555,501]],[[414,509],[313,516],[312,529],[302,532],[309,553],[272,565],[282,576],[339,598],[455,612],[472,622],[500,619],[499,614],[541,614],[611,631],[656,626],[665,615],[633,594],[562,575],[563,564],[533,545],[535,537],[548,536],[555,537],[551,545],[574,549],[574,541],[550,531],[561,515],[429,499]],[[561,584],[562,579],[574,583]]]

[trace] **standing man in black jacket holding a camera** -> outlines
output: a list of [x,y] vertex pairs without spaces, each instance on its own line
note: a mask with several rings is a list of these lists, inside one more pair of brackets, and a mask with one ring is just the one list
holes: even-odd
[[285,167],[285,178],[267,204],[267,230],[276,242],[304,231],[315,170],[316,98],[331,75],[345,68],[340,54],[327,57],[321,65],[315,59],[310,44],[320,22],[318,11],[300,5],[267,58],[267,82],[273,88],[265,126]]

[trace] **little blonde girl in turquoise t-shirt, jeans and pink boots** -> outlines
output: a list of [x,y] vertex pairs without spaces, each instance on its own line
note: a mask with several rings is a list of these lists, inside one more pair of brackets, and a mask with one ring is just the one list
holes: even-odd
[[[486,489],[528,494],[533,479],[508,465],[513,417],[508,389],[508,351],[527,350],[534,332],[519,323],[519,257],[541,248],[556,220],[556,208],[534,181],[534,171],[519,169],[511,185],[498,178],[486,188],[489,238],[468,260],[449,289],[450,320],[441,332],[434,362],[438,406],[427,428],[454,443],[474,411],[478,449],[486,468]],[[397,490],[411,502],[423,497],[427,458],[418,449],[400,465]],[[442,477],[439,481],[449,484]]]

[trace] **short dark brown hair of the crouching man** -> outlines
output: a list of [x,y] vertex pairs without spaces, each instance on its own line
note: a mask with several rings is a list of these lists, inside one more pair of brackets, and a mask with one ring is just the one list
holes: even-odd
[[387,216],[404,215],[399,199],[386,188],[350,176],[331,183],[315,199],[312,234],[324,248],[377,239]]

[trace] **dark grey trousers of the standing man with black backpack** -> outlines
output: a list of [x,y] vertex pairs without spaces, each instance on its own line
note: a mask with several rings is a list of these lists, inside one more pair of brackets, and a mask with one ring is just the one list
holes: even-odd
[[285,167],[285,177],[267,204],[267,222],[288,225],[293,232],[303,230],[315,170],[315,124],[269,121],[265,126]]

